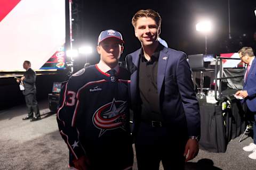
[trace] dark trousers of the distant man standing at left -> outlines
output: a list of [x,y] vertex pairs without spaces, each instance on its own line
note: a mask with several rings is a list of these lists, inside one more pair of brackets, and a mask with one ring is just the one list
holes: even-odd
[[36,94],[26,95],[25,101],[28,108],[28,117],[33,117],[34,112],[35,112],[35,117],[40,117],[39,108],[36,101]]

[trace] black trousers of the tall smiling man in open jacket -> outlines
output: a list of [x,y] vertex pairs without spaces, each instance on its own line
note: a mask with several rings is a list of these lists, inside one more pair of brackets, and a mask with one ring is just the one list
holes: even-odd
[[164,169],[184,169],[183,156],[188,140],[186,127],[152,127],[141,122],[135,134],[135,149],[139,170],[159,169],[162,160]]

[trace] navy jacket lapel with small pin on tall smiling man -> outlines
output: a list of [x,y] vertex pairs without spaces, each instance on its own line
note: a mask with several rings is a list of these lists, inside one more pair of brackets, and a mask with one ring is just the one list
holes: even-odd
[[166,65],[169,59],[169,55],[167,53],[167,48],[164,47],[163,50],[161,50],[159,58],[158,58],[158,69],[157,69],[157,91],[158,95],[161,93],[161,89],[164,82],[165,77],[165,69]]

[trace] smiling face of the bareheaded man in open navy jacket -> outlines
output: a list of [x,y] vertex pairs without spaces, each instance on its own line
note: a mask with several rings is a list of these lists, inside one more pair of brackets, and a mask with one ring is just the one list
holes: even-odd
[[149,17],[141,17],[135,24],[135,36],[140,40],[142,46],[157,45],[157,38],[160,34],[160,28],[156,21]]

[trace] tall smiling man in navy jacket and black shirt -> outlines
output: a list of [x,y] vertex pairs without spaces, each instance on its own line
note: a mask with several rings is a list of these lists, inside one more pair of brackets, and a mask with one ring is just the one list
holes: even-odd
[[131,73],[135,149],[139,169],[183,169],[198,154],[200,114],[186,54],[157,40],[161,16],[140,10],[132,18],[141,48],[126,56]]

